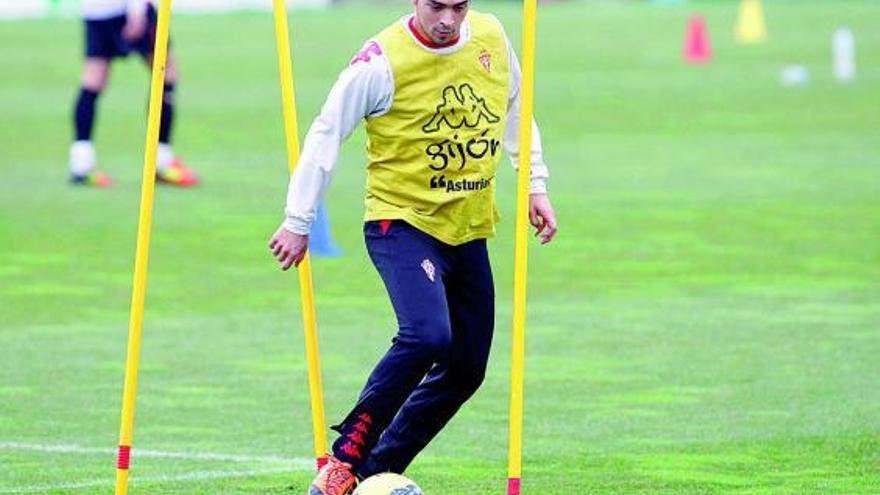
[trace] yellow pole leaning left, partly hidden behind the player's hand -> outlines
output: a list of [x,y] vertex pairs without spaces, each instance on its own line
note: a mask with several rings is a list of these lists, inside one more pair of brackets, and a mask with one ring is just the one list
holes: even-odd
[[[278,67],[281,77],[281,100],[284,110],[284,131],[287,139],[287,166],[290,173],[299,161],[299,140],[296,123],[296,97],[293,91],[293,64],[290,60],[290,35],[287,28],[287,7],[284,0],[275,2],[275,39],[278,46]],[[324,392],[321,386],[321,363],[318,354],[318,327],[315,318],[315,293],[312,287],[312,266],[308,253],[299,264],[299,288],[302,299],[303,329],[306,338],[306,360],[309,364],[309,395],[312,402],[312,428],[315,435],[315,459],[318,469],[327,462],[327,433],[324,430]]]

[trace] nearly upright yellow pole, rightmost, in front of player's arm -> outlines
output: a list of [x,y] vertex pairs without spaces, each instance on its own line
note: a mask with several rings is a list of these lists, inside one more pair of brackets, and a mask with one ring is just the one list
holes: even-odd
[[519,174],[516,187],[516,237],[513,272],[513,352],[510,376],[510,438],[507,494],[519,495],[522,480],[523,382],[525,376],[526,281],[528,269],[529,179],[532,109],[535,96],[535,22],[537,0],[523,0],[523,55],[520,86]]

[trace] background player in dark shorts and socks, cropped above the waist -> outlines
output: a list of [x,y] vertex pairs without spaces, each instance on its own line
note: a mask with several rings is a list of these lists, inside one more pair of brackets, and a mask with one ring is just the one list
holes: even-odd
[[[85,59],[73,112],[75,140],[70,145],[70,180],[73,184],[109,187],[112,184],[110,177],[96,169],[95,147],[92,144],[95,106],[107,86],[113,59],[136,52],[148,68],[152,67],[156,11],[149,0],[83,0],[82,15],[85,21]],[[177,75],[177,63],[169,50],[156,179],[165,184],[189,187],[199,182],[198,176],[183,165],[171,148]]]

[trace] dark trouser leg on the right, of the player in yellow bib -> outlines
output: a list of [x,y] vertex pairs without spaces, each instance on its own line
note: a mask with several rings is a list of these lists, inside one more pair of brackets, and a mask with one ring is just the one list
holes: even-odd
[[446,298],[452,327],[449,357],[437,363],[385,429],[360,477],[402,473],[415,456],[479,388],[486,372],[495,325],[495,291],[486,251],[478,240],[455,248]]

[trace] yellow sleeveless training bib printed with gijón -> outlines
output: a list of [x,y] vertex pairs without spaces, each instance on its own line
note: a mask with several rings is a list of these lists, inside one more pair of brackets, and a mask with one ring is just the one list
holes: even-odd
[[428,51],[396,22],[375,38],[394,101],[367,119],[366,220],[400,219],[447,244],[492,237],[495,174],[507,119],[507,44],[499,21],[470,11],[458,51]]

